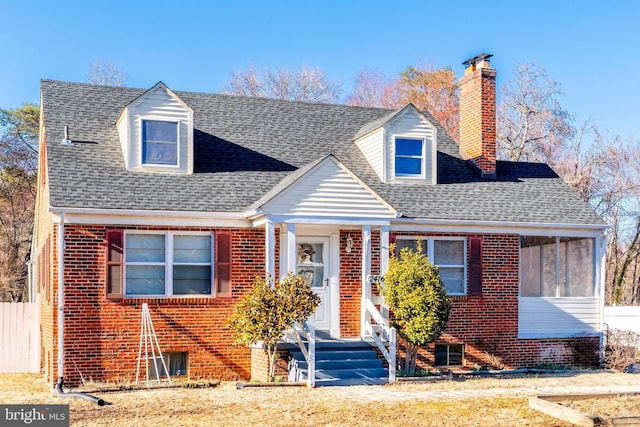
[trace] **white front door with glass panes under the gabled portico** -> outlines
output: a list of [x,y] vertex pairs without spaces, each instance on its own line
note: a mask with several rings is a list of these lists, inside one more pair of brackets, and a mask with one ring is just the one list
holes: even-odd
[[[320,296],[320,305],[307,323],[316,330],[331,329],[331,248],[326,237],[298,237],[296,274],[304,277]],[[335,286],[335,285],[334,285]]]

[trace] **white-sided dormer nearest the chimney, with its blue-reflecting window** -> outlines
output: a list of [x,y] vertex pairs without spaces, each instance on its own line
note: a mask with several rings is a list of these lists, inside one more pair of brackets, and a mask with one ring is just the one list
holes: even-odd
[[437,129],[413,104],[364,126],[354,138],[384,183],[437,183]]

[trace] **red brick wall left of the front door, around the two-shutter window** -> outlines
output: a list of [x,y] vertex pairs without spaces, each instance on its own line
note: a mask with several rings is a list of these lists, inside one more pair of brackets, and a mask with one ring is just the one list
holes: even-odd
[[[167,231],[169,229],[138,228]],[[173,228],[171,231],[215,228]],[[264,274],[264,230],[233,229],[230,298],[105,298],[105,227],[65,226],[65,383],[81,375],[94,381],[134,381],[140,340],[141,307],[149,304],[163,353],[189,352],[189,377],[249,378],[250,351],[232,344],[227,324],[235,303]],[[54,239],[55,240],[55,239]],[[52,263],[53,295],[43,303],[43,366],[53,383],[57,372],[57,260]]]

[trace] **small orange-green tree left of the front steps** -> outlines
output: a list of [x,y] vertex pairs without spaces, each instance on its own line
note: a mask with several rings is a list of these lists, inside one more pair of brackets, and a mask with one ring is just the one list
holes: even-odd
[[295,322],[303,322],[316,311],[320,297],[305,279],[289,273],[275,286],[256,277],[253,289],[236,305],[229,318],[236,342],[251,345],[259,341],[269,360],[268,382],[273,382],[278,360],[278,342]]

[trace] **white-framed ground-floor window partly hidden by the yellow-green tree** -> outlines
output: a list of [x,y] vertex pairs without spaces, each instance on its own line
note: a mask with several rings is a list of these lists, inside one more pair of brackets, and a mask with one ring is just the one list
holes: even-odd
[[[397,252],[402,248],[417,249],[415,237],[398,237]],[[436,238],[422,239],[422,252],[429,261],[438,267],[440,279],[448,295],[466,295],[466,240],[464,238]]]

